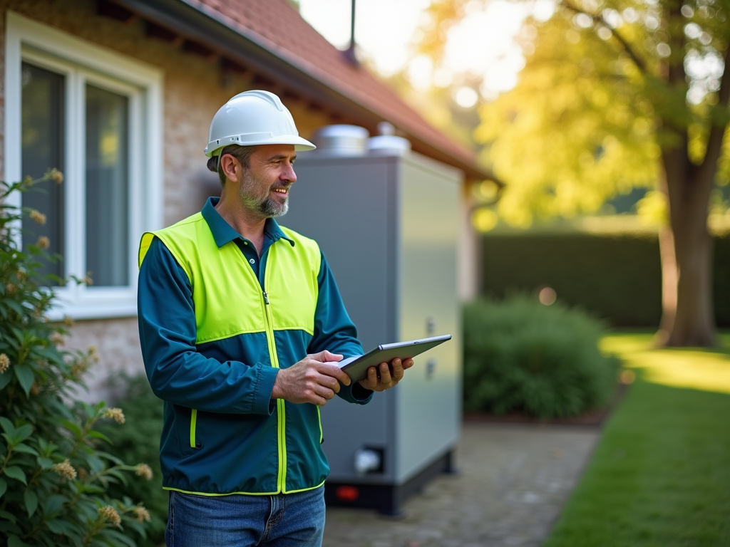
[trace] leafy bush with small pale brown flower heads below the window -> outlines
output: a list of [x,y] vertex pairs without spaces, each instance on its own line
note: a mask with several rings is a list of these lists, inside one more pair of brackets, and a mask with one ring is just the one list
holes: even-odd
[[107,489],[126,484],[129,473],[148,479],[152,472],[101,450],[109,440],[98,426],[123,424],[120,408],[74,401],[96,351],[60,348],[71,322],[47,322],[54,295],[38,273],[43,260],[58,257],[45,252],[46,236],[27,252],[18,245],[23,214],[39,225],[45,216],[5,199],[45,179],[60,183],[63,176],[53,170],[35,181],[0,183],[0,546],[134,547],[128,531],[144,537],[150,515]]

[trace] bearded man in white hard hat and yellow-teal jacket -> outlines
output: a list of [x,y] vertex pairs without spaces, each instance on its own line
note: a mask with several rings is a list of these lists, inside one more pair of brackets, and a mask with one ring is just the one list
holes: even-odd
[[274,220],[296,152],[314,148],[273,93],[240,93],[205,150],[220,199],[142,236],[139,333],[165,401],[169,546],[320,545],[320,406],[336,394],[365,404],[412,365],[382,363],[353,384],[336,364],[362,353],[355,326],[315,241]]

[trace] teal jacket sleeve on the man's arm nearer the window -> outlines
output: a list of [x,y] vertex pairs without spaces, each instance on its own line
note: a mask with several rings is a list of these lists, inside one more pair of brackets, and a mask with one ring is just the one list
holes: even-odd
[[142,358],[155,395],[201,411],[271,414],[277,369],[220,362],[197,351],[190,280],[156,237],[139,268],[137,311]]

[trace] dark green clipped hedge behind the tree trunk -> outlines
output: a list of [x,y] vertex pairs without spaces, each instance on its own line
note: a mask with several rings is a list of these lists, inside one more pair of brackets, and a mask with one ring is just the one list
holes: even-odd
[[[715,238],[715,319],[730,326],[730,237]],[[525,233],[483,236],[482,292],[552,287],[558,299],[617,327],[656,327],[661,261],[656,236]]]

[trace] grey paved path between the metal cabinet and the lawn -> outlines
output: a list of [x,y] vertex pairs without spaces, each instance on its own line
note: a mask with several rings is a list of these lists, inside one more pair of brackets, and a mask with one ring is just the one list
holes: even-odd
[[411,497],[400,520],[328,508],[323,547],[539,547],[599,431],[467,422],[456,475],[439,476]]

